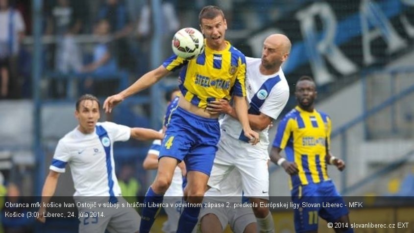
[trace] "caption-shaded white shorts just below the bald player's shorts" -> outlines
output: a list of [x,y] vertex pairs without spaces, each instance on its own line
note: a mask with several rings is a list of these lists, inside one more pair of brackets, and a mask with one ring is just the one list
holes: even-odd
[[243,233],[247,225],[256,222],[256,217],[251,208],[238,207],[233,209],[232,207],[233,205],[230,208],[203,208],[200,211],[200,221],[202,221],[203,216],[212,213],[219,218],[223,231],[229,224],[231,230],[235,233]]

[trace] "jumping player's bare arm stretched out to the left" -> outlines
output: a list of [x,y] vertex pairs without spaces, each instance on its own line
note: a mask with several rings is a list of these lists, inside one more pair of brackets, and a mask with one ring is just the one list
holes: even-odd
[[139,78],[135,83],[129,86],[127,89],[123,90],[118,94],[109,96],[103,102],[103,109],[106,113],[112,112],[112,109],[119,103],[121,103],[125,98],[135,93],[141,92],[146,88],[154,85],[162,77],[166,76],[170,71],[165,69],[163,66],[159,66],[155,70],[151,70]]

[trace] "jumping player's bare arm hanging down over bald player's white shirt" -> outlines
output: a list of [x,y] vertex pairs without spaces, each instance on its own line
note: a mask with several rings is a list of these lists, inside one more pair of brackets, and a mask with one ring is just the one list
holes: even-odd
[[250,143],[255,145],[259,142],[259,134],[250,128],[249,119],[247,116],[246,98],[234,95],[234,106],[236,109],[237,118],[243,126],[244,136],[250,139]]

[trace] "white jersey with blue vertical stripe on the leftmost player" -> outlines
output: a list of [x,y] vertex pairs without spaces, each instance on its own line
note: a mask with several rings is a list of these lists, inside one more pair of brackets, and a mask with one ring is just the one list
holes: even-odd
[[129,140],[131,128],[112,122],[98,122],[94,133],[83,134],[77,127],[59,140],[50,170],[65,172],[69,163],[73,196],[121,196],[115,175],[113,144]]

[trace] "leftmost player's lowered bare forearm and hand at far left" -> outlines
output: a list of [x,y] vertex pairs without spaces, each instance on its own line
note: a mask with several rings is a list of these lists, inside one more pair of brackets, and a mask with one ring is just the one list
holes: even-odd
[[46,208],[44,207],[43,203],[49,203],[50,198],[54,195],[57,186],[57,181],[59,180],[59,175],[59,172],[50,170],[48,176],[46,177],[45,185],[43,186],[42,190],[42,206],[38,210],[39,214],[36,219],[41,223],[45,223],[46,221],[46,217],[44,216]]

